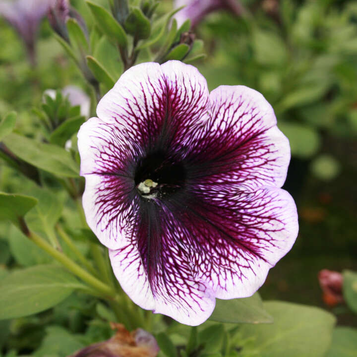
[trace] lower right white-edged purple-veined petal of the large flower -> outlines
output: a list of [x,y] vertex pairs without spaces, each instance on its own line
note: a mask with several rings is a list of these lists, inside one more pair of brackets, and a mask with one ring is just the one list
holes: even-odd
[[[214,189],[214,187],[212,187]],[[249,297],[268,271],[292,248],[298,233],[297,208],[280,188],[198,193],[190,232],[196,244],[196,278],[221,299]],[[193,222],[192,222],[193,223]],[[189,226],[189,222],[185,222]],[[205,253],[199,248],[206,245]],[[194,246],[194,245],[192,245]]]

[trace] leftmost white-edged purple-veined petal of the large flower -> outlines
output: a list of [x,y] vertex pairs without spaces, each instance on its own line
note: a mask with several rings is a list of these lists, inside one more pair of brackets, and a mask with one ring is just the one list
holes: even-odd
[[81,175],[86,178],[82,201],[87,223],[101,243],[112,249],[125,244],[124,229],[136,217],[131,149],[113,125],[98,118],[86,121],[78,132]]

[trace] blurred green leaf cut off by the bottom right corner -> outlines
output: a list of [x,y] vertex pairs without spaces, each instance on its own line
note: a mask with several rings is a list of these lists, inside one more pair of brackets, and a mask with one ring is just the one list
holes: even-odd
[[326,357],[356,357],[357,329],[336,327],[332,333],[332,345]]

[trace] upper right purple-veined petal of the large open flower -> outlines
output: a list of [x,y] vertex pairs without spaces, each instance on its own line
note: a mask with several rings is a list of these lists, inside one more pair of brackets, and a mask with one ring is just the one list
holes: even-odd
[[209,111],[190,150],[197,184],[281,187],[290,162],[289,140],[265,98],[244,86],[220,86],[210,94]]

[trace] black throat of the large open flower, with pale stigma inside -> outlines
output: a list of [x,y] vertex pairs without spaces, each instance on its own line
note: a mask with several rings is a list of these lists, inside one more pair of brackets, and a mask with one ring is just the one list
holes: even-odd
[[135,185],[145,198],[164,198],[182,189],[186,170],[181,162],[157,151],[141,159],[135,172]]

